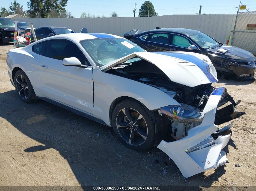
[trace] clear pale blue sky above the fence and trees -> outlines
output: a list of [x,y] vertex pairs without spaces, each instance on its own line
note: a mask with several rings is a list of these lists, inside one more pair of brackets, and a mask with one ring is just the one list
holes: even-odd
[[[7,10],[9,5],[14,0],[0,0],[0,8],[5,7]],[[27,2],[29,0],[16,0],[20,5],[23,5],[24,10],[28,10]],[[135,17],[138,17],[138,11],[141,4],[145,0],[133,0],[133,1],[118,1],[118,0],[68,0],[68,4],[65,7],[66,10],[71,12],[75,18],[79,18],[81,13],[102,17],[110,17],[112,12],[116,12],[118,17],[133,17],[134,3],[136,3],[137,11]],[[240,0],[151,0],[155,6],[155,11],[158,16],[173,15],[173,14],[198,14],[199,6],[202,5],[201,14],[236,14]],[[249,11],[256,11],[256,0],[244,0],[241,2],[246,5]]]

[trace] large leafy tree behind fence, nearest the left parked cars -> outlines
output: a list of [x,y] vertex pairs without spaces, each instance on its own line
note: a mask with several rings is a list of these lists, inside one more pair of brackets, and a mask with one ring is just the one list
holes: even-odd
[[30,13],[31,18],[49,18],[51,12],[57,13],[58,18],[63,17],[67,2],[68,0],[30,0],[27,3],[28,13]]

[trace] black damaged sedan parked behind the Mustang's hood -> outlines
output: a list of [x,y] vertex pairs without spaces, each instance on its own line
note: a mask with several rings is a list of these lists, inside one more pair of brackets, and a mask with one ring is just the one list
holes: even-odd
[[226,78],[252,79],[256,72],[256,58],[253,54],[219,43],[198,30],[162,28],[135,34],[129,38],[147,51],[186,51],[204,54],[211,59],[218,74]]

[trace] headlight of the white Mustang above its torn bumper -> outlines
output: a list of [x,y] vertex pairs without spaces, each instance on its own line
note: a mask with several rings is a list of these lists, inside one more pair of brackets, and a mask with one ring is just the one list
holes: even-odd
[[170,105],[166,107],[159,108],[161,113],[167,115],[171,120],[178,121],[181,123],[194,123],[201,122],[203,120],[204,115],[199,112],[191,111],[185,109],[178,105]]

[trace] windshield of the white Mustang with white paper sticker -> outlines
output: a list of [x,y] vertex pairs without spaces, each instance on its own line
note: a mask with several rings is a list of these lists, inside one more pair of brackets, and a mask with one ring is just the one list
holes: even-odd
[[121,38],[98,38],[82,40],[81,45],[99,67],[144,49],[129,40]]

